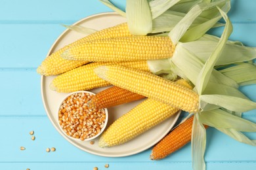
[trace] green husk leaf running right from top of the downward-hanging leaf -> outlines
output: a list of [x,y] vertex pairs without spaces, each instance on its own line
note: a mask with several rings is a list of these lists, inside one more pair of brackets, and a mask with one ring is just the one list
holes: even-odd
[[236,131],[256,132],[256,124],[234,116],[224,110],[215,109],[200,113],[202,124],[215,128],[235,129]]

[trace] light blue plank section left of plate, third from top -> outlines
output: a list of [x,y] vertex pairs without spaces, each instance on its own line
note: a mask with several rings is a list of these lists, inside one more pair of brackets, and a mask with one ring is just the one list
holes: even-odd
[[0,71],[0,115],[45,115],[41,76],[30,70]]

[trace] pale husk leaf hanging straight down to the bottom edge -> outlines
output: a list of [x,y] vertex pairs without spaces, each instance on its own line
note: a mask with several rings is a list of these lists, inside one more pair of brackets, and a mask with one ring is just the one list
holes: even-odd
[[206,131],[199,120],[198,114],[194,115],[191,145],[193,169],[205,169],[205,161],[203,157],[206,146]]

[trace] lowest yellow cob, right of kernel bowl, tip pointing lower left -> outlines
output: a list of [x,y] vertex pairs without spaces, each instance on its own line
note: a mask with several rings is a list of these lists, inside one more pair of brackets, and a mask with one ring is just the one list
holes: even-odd
[[[183,81],[177,82],[177,84],[184,83]],[[99,146],[115,146],[125,143],[178,111],[179,109],[160,101],[146,99],[111,124],[100,137]]]

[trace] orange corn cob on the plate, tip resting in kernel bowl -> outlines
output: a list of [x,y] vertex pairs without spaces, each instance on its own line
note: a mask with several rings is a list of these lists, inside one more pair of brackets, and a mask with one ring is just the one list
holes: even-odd
[[130,92],[117,86],[112,86],[94,95],[91,99],[90,108],[108,108],[143,98],[143,95]]

